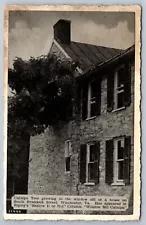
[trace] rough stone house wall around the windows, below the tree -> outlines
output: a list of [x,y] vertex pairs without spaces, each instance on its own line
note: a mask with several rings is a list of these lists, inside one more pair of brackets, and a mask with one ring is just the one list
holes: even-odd
[[[31,137],[28,194],[57,195],[126,195],[130,198],[133,184],[133,101],[134,67],[132,67],[132,103],[116,112],[107,112],[107,79],[101,84],[101,115],[88,121],[70,121],[48,127],[44,133]],[[131,184],[111,186],[105,183],[105,143],[114,137],[132,137]],[[72,142],[71,171],[65,173],[65,141]],[[79,182],[80,145],[100,141],[100,179],[95,186]]]

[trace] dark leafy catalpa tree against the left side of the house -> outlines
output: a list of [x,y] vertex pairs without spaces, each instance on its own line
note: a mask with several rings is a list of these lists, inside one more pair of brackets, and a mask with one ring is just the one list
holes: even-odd
[[19,160],[28,136],[72,115],[76,67],[51,54],[14,60],[8,70],[8,84],[14,92],[8,100],[8,173],[22,175]]

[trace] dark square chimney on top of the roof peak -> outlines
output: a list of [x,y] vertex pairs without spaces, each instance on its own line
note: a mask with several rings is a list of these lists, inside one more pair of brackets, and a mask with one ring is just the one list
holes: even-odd
[[70,43],[70,21],[69,20],[58,20],[53,26],[54,28],[54,39],[61,43]]

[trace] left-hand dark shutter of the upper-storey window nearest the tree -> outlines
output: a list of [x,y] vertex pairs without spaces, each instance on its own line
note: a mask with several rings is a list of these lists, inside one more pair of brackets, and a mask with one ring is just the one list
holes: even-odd
[[88,84],[85,83],[82,89],[82,119],[87,119]]

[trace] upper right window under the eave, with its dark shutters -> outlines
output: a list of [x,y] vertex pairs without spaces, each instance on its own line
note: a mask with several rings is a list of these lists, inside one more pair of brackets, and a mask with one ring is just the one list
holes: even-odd
[[121,109],[131,103],[131,67],[125,63],[107,76],[107,111]]

